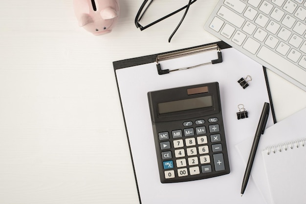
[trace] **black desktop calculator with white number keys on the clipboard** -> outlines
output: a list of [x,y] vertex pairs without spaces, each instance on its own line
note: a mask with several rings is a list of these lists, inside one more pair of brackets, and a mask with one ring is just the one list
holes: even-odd
[[161,183],[230,173],[219,83],[148,92]]

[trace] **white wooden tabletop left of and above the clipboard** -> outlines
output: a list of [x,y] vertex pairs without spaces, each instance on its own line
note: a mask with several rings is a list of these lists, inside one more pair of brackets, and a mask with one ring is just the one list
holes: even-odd
[[217,1],[198,0],[171,43],[182,14],[139,31],[142,0],[119,3],[97,37],[72,0],[0,1],[0,204],[138,203],[112,61],[219,41],[203,29]]

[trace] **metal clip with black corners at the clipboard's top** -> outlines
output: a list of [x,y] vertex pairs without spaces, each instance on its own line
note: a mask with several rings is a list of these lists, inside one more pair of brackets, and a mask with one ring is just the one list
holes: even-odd
[[[175,58],[185,57],[185,56],[189,56],[189,55],[195,55],[195,54],[208,52],[208,51],[212,51],[212,50],[217,50],[218,51],[218,53],[217,53],[218,54],[218,59],[212,60],[210,62],[202,63],[202,64],[197,64],[195,66],[189,66],[189,67],[178,68],[178,69],[173,69],[173,70],[169,70],[169,69],[162,70],[161,66],[160,66],[160,63],[159,63],[159,61],[172,60],[172,59],[175,59]],[[217,44],[212,44],[212,45],[206,45],[206,46],[192,48],[192,49],[188,49],[188,50],[183,50],[183,51],[177,51],[177,52],[173,52],[173,53],[158,55],[155,62],[156,62],[156,67],[157,67],[158,74],[163,75],[163,74],[168,74],[168,73],[173,72],[173,71],[192,69],[192,68],[196,68],[196,67],[207,65],[207,64],[220,63],[220,62],[222,62],[222,53],[221,53],[220,48]]]

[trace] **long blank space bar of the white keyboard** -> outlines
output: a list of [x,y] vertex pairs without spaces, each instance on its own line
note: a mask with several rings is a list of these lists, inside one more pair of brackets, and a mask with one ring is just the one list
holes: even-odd
[[[257,57],[266,61],[270,64],[275,64],[276,67],[279,68],[284,74],[292,73],[291,76],[296,79],[297,81],[301,82],[302,84],[306,85],[306,72],[305,70],[301,69],[300,67],[296,66],[295,64],[287,61],[282,56],[278,55],[274,51],[262,46],[259,50]],[[290,69],[293,69],[292,72]]]

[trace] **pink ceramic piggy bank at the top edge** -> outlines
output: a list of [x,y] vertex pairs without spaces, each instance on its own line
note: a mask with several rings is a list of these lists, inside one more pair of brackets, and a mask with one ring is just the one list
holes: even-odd
[[79,26],[93,35],[109,33],[119,16],[118,0],[73,0]]

